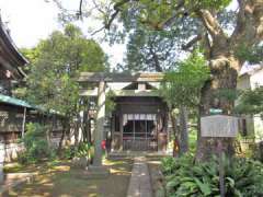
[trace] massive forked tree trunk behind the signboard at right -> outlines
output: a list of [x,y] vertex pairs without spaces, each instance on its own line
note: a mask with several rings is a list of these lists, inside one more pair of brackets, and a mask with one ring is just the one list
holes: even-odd
[[[207,36],[204,36],[203,45],[206,51],[205,56],[210,60],[213,76],[213,79],[207,81],[202,90],[201,116],[208,115],[211,107],[221,108],[224,114],[227,115],[232,114],[233,101],[227,101],[222,97],[217,99],[215,92],[218,89],[236,90],[238,71],[244,58],[240,57],[238,59],[235,54],[240,47],[249,48],[254,44],[260,44],[263,39],[263,1],[239,0],[237,2],[239,11],[231,36],[227,36],[220,23],[209,10],[201,9],[196,11],[196,15],[206,30]],[[216,140],[202,138],[201,131],[198,131],[197,137],[196,159],[203,160],[215,152]],[[226,139],[222,143],[227,153],[233,153],[232,139]]]

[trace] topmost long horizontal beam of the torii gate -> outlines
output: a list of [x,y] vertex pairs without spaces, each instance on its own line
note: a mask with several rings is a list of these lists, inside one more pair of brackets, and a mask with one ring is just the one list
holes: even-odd
[[81,72],[79,82],[160,82],[163,79],[162,72],[152,73],[104,73],[104,72]]

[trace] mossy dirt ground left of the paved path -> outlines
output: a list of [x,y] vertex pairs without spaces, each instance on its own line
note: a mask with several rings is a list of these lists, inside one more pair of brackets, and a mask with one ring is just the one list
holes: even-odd
[[58,163],[52,169],[39,169],[41,175],[33,183],[20,186],[3,196],[34,197],[126,197],[133,161],[130,159],[107,160],[107,178],[83,178],[83,170],[70,167],[70,163]]

